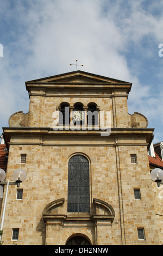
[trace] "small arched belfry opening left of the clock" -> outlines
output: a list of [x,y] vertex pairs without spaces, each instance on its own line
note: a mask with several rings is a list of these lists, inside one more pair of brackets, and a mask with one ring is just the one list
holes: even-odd
[[59,112],[59,124],[60,125],[69,125],[70,124],[70,104],[67,102],[60,103],[60,112]]

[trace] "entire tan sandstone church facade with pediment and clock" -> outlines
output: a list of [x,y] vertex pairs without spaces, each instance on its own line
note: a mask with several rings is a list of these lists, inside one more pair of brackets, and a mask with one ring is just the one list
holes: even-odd
[[9,188],[4,245],[161,245],[153,129],[128,113],[131,83],[74,71],[26,88],[29,112],[3,128],[7,180],[15,169],[27,174]]

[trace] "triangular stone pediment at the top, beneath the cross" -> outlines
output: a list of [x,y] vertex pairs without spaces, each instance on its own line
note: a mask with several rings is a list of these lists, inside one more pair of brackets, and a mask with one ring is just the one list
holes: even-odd
[[[58,83],[58,84],[64,84],[64,83],[88,83],[88,84],[95,84],[95,83],[110,83],[110,84],[126,84],[128,82],[115,80],[113,78],[99,76],[95,74],[91,74],[84,71],[74,71],[74,72],[68,72],[61,75],[51,76],[51,77],[45,77],[40,78],[38,80],[28,81],[28,83]],[[130,83],[128,83],[130,84]]]

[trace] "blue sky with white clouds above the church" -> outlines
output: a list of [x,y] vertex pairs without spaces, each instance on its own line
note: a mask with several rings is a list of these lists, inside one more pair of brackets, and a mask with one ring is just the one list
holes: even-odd
[[29,110],[26,81],[75,71],[76,59],[79,70],[131,82],[128,113],[145,115],[153,143],[163,141],[159,0],[0,0],[0,133]]

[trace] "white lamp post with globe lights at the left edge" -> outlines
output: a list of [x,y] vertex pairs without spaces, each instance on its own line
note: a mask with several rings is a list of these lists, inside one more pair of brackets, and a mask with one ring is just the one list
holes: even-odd
[[[9,181],[4,182],[5,176],[6,176],[6,174],[5,174],[4,170],[0,169],[0,185],[7,185],[6,192],[5,192],[5,198],[4,198],[4,206],[3,206],[0,230],[3,230],[4,215],[5,215],[5,208],[7,205],[9,185],[17,185],[17,187],[20,187],[20,183],[26,179],[26,172],[22,169],[15,170],[15,172],[12,175],[12,178],[13,178],[13,180],[15,180],[15,182],[9,182]],[[0,235],[0,241],[2,241],[2,235]]]

